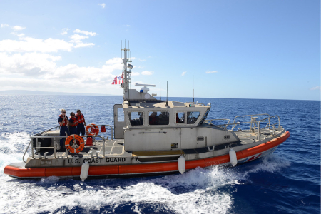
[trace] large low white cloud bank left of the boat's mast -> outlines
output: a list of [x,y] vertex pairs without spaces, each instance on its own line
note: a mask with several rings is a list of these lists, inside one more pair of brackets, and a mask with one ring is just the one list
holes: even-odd
[[60,56],[0,53],[0,88],[33,88],[41,91],[63,88],[64,91],[73,92],[80,92],[81,88],[83,92],[88,92],[88,88],[113,88],[111,82],[116,75],[112,73],[121,73],[122,69],[119,63],[121,58],[116,59],[106,61],[101,67],[80,67],[76,64],[57,66],[56,61],[61,60]]

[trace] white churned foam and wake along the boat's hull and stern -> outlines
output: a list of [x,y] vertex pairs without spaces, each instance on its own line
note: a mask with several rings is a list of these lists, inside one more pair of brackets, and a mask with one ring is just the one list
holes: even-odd
[[[18,143],[26,146],[26,133],[1,136],[4,144]],[[131,204],[135,213],[143,213],[142,205],[148,204],[155,211],[174,213],[230,213],[233,205],[233,185],[242,185],[250,173],[267,171],[275,173],[290,165],[278,156],[257,161],[251,168],[196,168],[183,175],[121,180],[61,180],[58,177],[41,180],[19,180],[3,173],[10,162],[21,162],[22,151],[9,146],[12,153],[1,153],[0,213],[53,213],[59,208],[82,208],[87,213],[104,210],[116,211]],[[14,153],[16,152],[16,153]],[[243,166],[240,166],[243,167]]]

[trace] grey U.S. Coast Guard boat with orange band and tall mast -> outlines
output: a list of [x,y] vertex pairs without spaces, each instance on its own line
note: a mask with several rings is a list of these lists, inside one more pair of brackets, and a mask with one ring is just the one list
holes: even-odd
[[277,115],[236,116],[233,123],[207,120],[210,103],[157,100],[156,94],[148,93],[153,85],[129,89],[131,70],[127,69],[133,66],[128,64],[128,49],[123,51],[123,103],[114,105],[113,126],[87,126],[86,136],[66,138],[64,151],[57,151],[59,126],[37,133],[26,149],[29,157],[7,165],[4,173],[14,178],[82,180],[184,173],[262,158],[290,136]]

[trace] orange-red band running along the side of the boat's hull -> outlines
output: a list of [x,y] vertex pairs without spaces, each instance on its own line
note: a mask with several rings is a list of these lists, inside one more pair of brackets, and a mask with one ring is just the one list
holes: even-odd
[[[281,136],[261,143],[258,146],[244,149],[236,152],[238,164],[248,163],[258,158],[270,155],[277,146],[283,143],[290,133],[285,131]],[[213,165],[229,165],[230,156],[215,156],[212,158],[203,158],[192,161],[185,161],[186,170],[197,167],[208,168]],[[25,168],[24,163],[11,163],[4,168],[4,173],[14,178],[44,178],[49,176],[58,177],[79,177],[81,166],[74,167],[38,167]],[[133,177],[148,175],[163,175],[178,173],[178,161],[167,163],[140,163],[130,165],[91,165],[88,171],[88,177]]]

